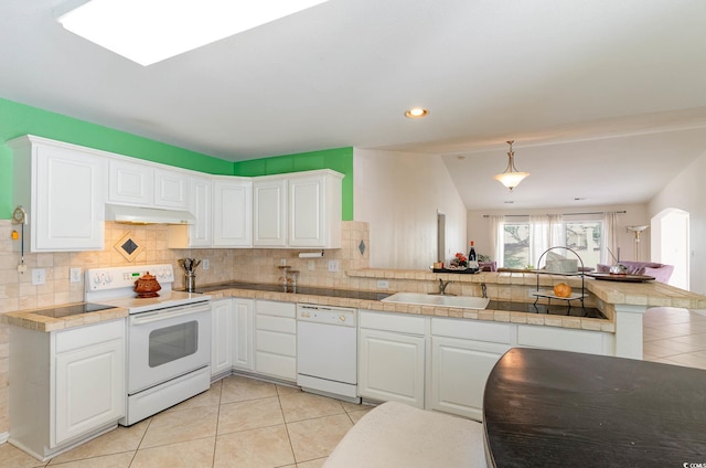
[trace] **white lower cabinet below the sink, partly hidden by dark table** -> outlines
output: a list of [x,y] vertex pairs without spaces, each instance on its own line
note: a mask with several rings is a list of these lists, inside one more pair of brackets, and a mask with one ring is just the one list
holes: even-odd
[[482,421],[488,375],[511,348],[514,326],[431,319],[431,410]]

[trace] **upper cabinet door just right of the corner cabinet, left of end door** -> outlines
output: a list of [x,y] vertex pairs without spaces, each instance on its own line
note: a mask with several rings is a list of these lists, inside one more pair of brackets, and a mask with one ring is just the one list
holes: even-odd
[[253,183],[253,245],[287,245],[287,180]]

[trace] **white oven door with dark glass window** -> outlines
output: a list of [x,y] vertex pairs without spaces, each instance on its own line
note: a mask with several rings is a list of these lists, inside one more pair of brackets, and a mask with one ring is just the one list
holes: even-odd
[[129,395],[211,363],[208,302],[136,313],[128,323]]

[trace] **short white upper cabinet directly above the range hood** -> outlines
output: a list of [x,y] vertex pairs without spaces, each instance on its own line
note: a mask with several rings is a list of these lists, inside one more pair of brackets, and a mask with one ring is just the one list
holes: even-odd
[[108,201],[163,209],[186,209],[189,176],[153,164],[110,159]]

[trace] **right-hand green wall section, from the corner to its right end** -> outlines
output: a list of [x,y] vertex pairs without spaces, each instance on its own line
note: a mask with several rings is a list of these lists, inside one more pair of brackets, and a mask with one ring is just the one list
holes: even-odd
[[234,174],[243,177],[274,176],[287,172],[331,169],[341,172],[342,219],[353,221],[353,148],[335,148],[321,151],[299,152],[271,158],[236,161]]

